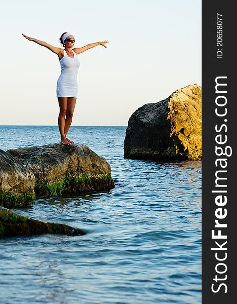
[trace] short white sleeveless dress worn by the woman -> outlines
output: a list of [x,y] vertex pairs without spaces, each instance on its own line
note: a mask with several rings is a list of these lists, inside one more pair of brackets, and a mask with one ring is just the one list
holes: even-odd
[[77,72],[80,66],[77,54],[72,50],[74,57],[69,57],[64,50],[60,60],[61,74],[57,81],[57,97],[77,97]]

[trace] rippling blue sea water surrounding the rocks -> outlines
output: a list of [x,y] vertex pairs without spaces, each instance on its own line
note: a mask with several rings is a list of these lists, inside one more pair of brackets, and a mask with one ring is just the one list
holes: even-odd
[[[12,209],[87,234],[0,239],[1,304],[201,303],[201,162],[124,159],[125,130],[71,126],[115,188]],[[5,151],[59,141],[57,126],[0,126]]]

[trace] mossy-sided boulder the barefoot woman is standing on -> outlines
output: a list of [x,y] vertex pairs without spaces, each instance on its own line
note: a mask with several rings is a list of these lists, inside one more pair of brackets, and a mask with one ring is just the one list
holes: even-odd
[[36,195],[58,196],[114,187],[106,159],[83,144],[56,143],[7,152],[34,173]]

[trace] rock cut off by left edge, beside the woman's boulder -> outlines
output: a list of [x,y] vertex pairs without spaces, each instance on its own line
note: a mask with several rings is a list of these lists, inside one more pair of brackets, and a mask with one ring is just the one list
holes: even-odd
[[31,206],[35,200],[34,186],[34,174],[0,149],[0,205]]

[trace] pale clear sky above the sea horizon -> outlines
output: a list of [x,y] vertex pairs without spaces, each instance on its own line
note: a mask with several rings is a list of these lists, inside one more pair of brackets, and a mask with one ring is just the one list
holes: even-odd
[[1,3],[0,125],[57,125],[62,47],[109,40],[79,54],[74,126],[126,126],[140,106],[201,84],[201,0],[13,0]]

